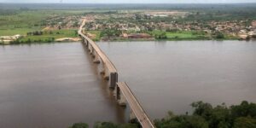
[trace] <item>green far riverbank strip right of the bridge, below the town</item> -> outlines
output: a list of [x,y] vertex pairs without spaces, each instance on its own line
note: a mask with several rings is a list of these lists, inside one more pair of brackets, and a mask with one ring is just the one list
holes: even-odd
[[119,36],[108,31],[86,31],[85,34],[94,41],[189,41],[189,40],[239,40],[239,37],[224,33],[206,33],[196,31],[152,31],[139,33],[119,33]]

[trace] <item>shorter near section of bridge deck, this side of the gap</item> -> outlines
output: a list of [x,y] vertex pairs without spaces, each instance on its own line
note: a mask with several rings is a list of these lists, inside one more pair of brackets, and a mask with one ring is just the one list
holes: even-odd
[[129,103],[132,112],[136,115],[137,120],[143,126],[143,128],[154,128],[152,121],[148,118],[148,115],[143,110],[137,98],[131,92],[130,88],[124,82],[118,83],[119,89],[125,96],[126,101]]

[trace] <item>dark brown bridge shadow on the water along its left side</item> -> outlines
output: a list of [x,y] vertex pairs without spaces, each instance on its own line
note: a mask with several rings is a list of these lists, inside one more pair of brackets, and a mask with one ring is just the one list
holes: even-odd
[[92,72],[95,73],[97,79],[101,83],[102,96],[108,99],[108,102],[106,103],[108,104],[108,106],[113,108],[113,112],[115,112],[117,123],[125,123],[128,120],[127,114],[125,114],[127,113],[127,111],[125,110],[125,108],[120,107],[118,105],[118,102],[116,102],[113,90],[109,89],[109,82],[107,80],[102,79],[102,74],[100,73],[102,67],[100,67],[100,64],[95,64],[93,62],[93,57],[90,55],[89,50],[86,49],[85,44],[82,44],[82,46],[84,49],[84,55],[87,55],[87,58],[89,58],[91,67],[93,69]]

